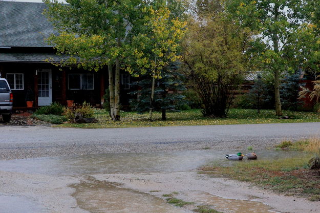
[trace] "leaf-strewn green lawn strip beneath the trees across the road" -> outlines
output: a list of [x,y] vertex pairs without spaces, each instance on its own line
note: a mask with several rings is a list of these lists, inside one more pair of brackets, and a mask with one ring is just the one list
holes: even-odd
[[154,121],[148,119],[148,114],[135,112],[122,112],[121,121],[112,121],[104,110],[95,110],[94,116],[99,123],[74,124],[63,123],[58,127],[79,128],[118,128],[118,127],[145,127],[145,126],[180,126],[180,125],[224,125],[224,124],[250,124],[250,123],[290,123],[290,122],[319,122],[320,113],[284,111],[284,115],[294,119],[278,119],[273,110],[231,109],[228,118],[203,117],[201,110],[187,110],[181,112],[168,112],[167,120],[161,120],[161,113],[154,113]]

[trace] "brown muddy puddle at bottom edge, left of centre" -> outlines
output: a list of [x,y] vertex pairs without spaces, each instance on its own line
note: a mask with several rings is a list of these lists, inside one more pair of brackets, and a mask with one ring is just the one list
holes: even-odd
[[80,208],[92,213],[179,213],[185,212],[163,199],[139,193],[130,189],[119,188],[116,185],[91,180],[73,184],[76,192],[72,195]]

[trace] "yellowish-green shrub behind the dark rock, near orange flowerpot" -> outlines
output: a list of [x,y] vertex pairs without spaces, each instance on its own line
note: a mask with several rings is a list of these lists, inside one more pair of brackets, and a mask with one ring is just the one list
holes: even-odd
[[74,119],[76,113],[81,114],[83,118],[93,118],[94,108],[91,107],[90,103],[84,101],[82,105],[73,104],[72,107],[63,109],[63,115],[65,115],[68,120]]

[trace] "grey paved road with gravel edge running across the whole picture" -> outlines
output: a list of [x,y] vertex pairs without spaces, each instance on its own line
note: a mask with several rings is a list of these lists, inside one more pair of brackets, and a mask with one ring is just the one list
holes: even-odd
[[276,123],[125,129],[1,126],[0,159],[86,154],[268,147],[320,136],[320,123]]

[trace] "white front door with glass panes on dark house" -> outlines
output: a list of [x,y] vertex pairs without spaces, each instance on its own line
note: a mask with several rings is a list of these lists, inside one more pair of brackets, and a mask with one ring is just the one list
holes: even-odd
[[42,69],[38,72],[38,105],[45,106],[52,103],[52,72]]

